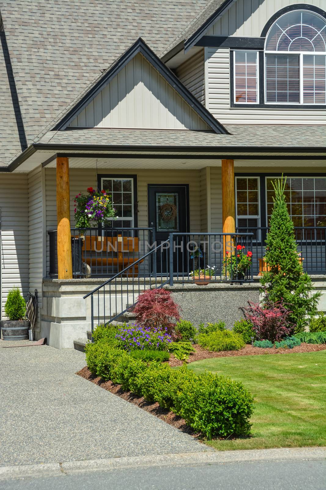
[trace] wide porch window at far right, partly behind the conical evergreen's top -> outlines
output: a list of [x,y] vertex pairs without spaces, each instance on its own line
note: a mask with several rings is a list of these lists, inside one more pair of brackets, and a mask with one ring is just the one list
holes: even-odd
[[[275,177],[266,177],[267,222],[273,209]],[[285,200],[294,226],[326,226],[326,177],[287,177]]]

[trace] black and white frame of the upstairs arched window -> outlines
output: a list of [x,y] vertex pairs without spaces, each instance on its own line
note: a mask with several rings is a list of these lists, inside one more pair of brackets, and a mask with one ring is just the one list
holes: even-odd
[[[279,10],[276,12],[267,22],[265,27],[263,28],[261,32],[261,36],[263,38],[267,38],[268,33],[270,29],[273,27],[275,22],[277,22],[278,19],[280,19],[283,15],[289,12],[294,12],[294,11],[306,11],[309,13],[313,13],[321,17],[326,21],[326,11],[320,9],[319,7],[314,7],[309,4],[291,4],[287,5],[286,7],[283,7],[283,9]],[[254,50],[258,53],[258,68],[259,68],[259,73],[258,73],[258,83],[259,83],[259,103],[244,103],[244,102],[235,102],[235,64],[234,64],[234,51],[250,51]],[[306,102],[306,103],[293,103],[293,102],[266,102],[266,77],[265,77],[265,54],[315,54],[315,55],[326,55],[326,52],[324,53],[321,51],[265,51],[265,49],[238,49],[238,48],[233,48],[230,49],[230,57],[229,57],[229,63],[230,63],[230,108],[231,109],[239,109],[239,108],[255,108],[255,109],[284,109],[287,108],[288,110],[292,109],[314,109],[314,110],[325,110],[326,109],[326,100],[325,103],[311,103],[311,102]],[[303,100],[303,58],[300,56],[300,100]]]

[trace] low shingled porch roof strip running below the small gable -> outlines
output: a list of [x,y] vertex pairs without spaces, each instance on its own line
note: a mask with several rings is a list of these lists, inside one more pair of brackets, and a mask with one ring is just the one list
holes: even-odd
[[231,134],[163,129],[76,129],[48,131],[38,143],[50,145],[326,147],[326,125],[227,124]]

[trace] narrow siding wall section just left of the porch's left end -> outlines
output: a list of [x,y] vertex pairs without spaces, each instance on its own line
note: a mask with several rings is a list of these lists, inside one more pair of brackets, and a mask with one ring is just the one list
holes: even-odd
[[40,167],[27,176],[28,186],[28,263],[29,291],[38,290],[38,305],[42,308],[43,279],[43,192]]

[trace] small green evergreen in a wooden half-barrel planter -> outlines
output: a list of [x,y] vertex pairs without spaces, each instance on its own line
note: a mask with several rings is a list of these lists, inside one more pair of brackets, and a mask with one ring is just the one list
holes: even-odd
[[19,288],[8,292],[4,313],[8,320],[0,322],[3,340],[27,340],[29,321],[24,319],[26,303]]

